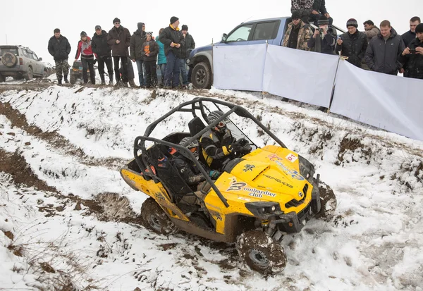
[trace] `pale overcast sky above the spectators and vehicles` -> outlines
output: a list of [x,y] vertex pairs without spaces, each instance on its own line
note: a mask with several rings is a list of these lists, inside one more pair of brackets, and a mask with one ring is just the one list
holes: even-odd
[[[6,4],[6,3],[4,3]],[[54,64],[47,51],[47,43],[56,27],[71,42],[69,63],[75,58],[75,48],[84,30],[94,34],[95,25],[101,25],[107,32],[113,26],[113,19],[121,19],[121,25],[132,34],[138,22],[146,24],[146,30],[157,35],[166,27],[171,16],[186,24],[197,47],[218,42],[223,32],[229,32],[246,20],[257,20],[279,16],[290,16],[289,0],[268,1],[60,1],[20,0],[8,1],[1,6],[0,44],[22,44]],[[7,7],[7,8],[6,8]],[[403,33],[409,30],[409,20],[416,13],[423,13],[422,0],[326,0],[326,8],[333,17],[333,23],[345,27],[348,18],[356,18],[362,30],[364,20],[374,23],[390,20],[392,26]]]

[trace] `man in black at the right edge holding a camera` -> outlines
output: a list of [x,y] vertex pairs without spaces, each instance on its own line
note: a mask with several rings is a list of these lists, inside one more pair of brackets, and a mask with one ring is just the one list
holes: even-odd
[[415,31],[417,38],[398,56],[398,61],[404,64],[404,77],[423,80],[423,23],[417,25]]

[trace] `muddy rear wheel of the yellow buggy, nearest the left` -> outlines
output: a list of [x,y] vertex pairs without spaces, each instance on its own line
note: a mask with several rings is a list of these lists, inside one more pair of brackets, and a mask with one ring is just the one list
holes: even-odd
[[157,202],[147,198],[141,206],[142,225],[161,235],[172,235],[178,229],[168,218]]

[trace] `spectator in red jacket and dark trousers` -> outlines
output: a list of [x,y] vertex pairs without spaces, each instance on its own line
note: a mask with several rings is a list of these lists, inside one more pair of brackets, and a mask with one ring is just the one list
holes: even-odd
[[91,84],[95,85],[94,53],[92,52],[91,39],[87,36],[87,32],[85,31],[80,33],[80,37],[81,39],[78,42],[78,49],[76,49],[75,62],[78,61],[78,58],[81,56],[82,80],[84,80],[84,84],[87,84],[87,70],[89,69]]

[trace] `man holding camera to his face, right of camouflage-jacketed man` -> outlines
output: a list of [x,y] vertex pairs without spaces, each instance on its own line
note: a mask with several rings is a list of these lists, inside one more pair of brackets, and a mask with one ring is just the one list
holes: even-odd
[[307,42],[308,47],[322,54],[334,54],[336,32],[329,29],[329,19],[322,15],[317,23],[319,29],[314,30],[314,35]]

